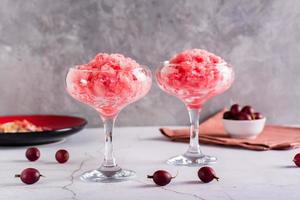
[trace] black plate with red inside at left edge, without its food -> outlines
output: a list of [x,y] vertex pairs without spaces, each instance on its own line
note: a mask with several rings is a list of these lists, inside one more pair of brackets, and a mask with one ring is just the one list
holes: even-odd
[[50,131],[27,133],[0,133],[1,146],[25,146],[57,142],[84,128],[83,118],[60,115],[0,116],[0,124],[15,120],[28,120],[34,125],[50,128]]

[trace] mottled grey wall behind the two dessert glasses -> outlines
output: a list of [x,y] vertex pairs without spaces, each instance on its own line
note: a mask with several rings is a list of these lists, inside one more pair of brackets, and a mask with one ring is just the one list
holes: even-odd
[[[97,52],[119,52],[155,69],[187,48],[205,48],[235,67],[227,93],[202,119],[232,102],[252,104],[272,123],[299,123],[298,0],[0,0],[0,115],[96,112],[67,95],[66,70]],[[154,82],[117,125],[184,125],[181,102]]]

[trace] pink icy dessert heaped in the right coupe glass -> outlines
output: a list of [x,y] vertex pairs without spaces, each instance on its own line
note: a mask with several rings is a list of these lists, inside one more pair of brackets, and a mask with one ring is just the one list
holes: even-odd
[[189,108],[201,108],[210,97],[227,90],[232,68],[220,57],[202,49],[176,54],[156,72],[158,85],[181,99]]

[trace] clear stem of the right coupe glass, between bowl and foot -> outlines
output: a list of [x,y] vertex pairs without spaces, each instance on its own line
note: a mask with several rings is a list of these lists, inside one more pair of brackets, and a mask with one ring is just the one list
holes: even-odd
[[190,145],[186,152],[187,155],[199,155],[202,154],[199,147],[199,117],[201,109],[188,108],[190,117]]

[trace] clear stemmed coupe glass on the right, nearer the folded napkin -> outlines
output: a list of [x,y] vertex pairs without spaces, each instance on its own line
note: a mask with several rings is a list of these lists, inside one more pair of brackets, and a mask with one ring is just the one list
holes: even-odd
[[231,86],[234,80],[232,67],[225,62],[203,66],[199,63],[171,64],[165,61],[156,70],[156,80],[163,91],[184,102],[191,123],[187,151],[170,158],[167,163],[195,166],[216,162],[216,157],[205,155],[200,150],[199,115],[204,102]]

